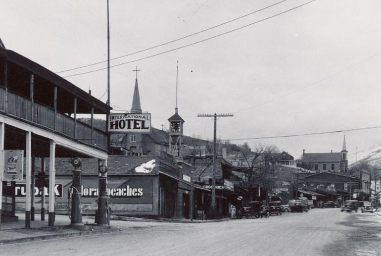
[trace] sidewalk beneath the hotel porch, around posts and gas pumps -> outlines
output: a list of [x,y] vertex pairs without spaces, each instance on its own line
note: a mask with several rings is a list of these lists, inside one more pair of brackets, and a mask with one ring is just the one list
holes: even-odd
[[[48,226],[48,216],[46,221],[40,220],[40,215],[36,214],[36,220],[31,221],[31,228],[25,228],[25,214],[16,214],[19,217],[17,222],[2,222],[0,230],[0,245],[10,243],[22,243],[31,241],[41,241],[56,238],[65,238],[73,236],[103,234],[111,232],[120,232],[117,227],[107,229],[96,229],[81,231],[70,228],[70,219],[67,215],[56,215],[54,226]],[[84,224],[94,224],[94,217],[83,217]]]

